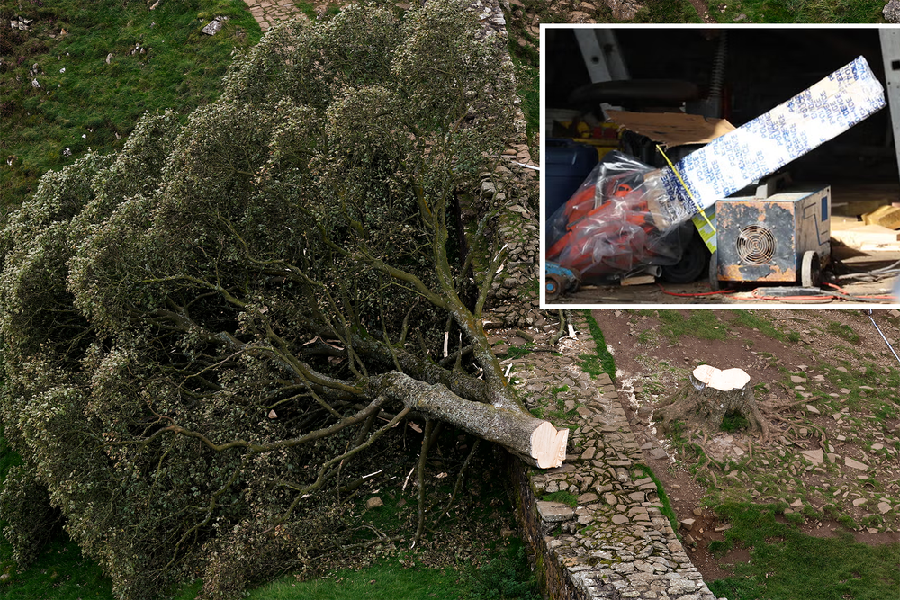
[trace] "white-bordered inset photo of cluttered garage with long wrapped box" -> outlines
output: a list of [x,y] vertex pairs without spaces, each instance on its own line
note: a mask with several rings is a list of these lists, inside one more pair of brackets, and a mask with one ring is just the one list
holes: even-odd
[[900,31],[541,34],[542,307],[900,303]]

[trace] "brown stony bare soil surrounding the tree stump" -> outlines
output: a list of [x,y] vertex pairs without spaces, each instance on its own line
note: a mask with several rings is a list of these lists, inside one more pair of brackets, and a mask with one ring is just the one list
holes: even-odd
[[[707,551],[709,542],[724,539],[720,528],[726,524],[711,508],[723,501],[787,502],[787,513],[805,512],[800,528],[815,536],[851,531],[858,542],[900,541],[895,355],[860,310],[749,312],[776,327],[781,338],[747,327],[737,311],[702,311],[706,333],[695,327],[680,336],[662,333],[666,323],[656,310],[593,311],[615,356],[619,399],[644,443],[645,460],[662,480],[679,521],[696,519],[690,531],[680,529],[691,560],[707,580],[728,577],[734,564],[748,560],[744,549],[724,557]],[[873,318],[888,340],[900,341],[900,312],[879,310]],[[725,339],[697,336],[717,331]],[[695,459],[687,459],[672,440],[660,439],[651,419],[654,403],[684,384],[700,363],[748,372],[773,435],[767,443],[746,428],[720,432],[705,443],[698,435],[693,441],[729,468],[708,467],[703,474],[711,472],[712,482],[698,483],[690,472]],[[668,456],[654,458],[661,447]],[[815,463],[800,454],[819,449],[834,462]],[[866,468],[851,468],[845,459]]]

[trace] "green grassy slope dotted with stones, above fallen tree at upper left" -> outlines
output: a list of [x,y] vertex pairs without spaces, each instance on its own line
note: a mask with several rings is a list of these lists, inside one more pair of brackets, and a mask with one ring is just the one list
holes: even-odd
[[[8,66],[0,68],[4,210],[33,193],[40,175],[74,162],[87,148],[121,148],[144,112],[172,108],[186,115],[213,101],[232,50],[247,49],[261,36],[243,0],[163,2],[154,11],[123,0],[20,4],[0,0],[0,22],[6,23],[0,60]],[[33,19],[31,31],[11,30],[13,14]],[[215,36],[203,34],[202,26],[217,15],[229,21]],[[62,29],[67,35],[59,37]],[[138,44],[145,53],[131,54]],[[36,76],[29,73],[34,64]]]

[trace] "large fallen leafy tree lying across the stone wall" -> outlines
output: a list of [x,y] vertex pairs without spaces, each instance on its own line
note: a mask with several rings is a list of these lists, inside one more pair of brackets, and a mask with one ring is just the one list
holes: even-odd
[[[527,412],[483,331],[504,252],[455,227],[514,114],[479,38],[455,2],[275,29],[185,125],[148,115],[42,179],[0,240],[20,563],[35,481],[117,595],[199,574],[222,597],[310,560],[341,524],[316,497],[404,418],[427,421],[419,481],[437,421],[560,464],[568,430]],[[477,246],[490,223],[466,224]]]

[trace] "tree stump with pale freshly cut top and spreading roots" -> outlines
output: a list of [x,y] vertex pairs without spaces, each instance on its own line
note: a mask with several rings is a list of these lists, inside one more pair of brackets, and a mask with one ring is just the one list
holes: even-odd
[[752,432],[769,438],[769,423],[763,418],[750,385],[750,375],[743,369],[721,371],[701,364],[690,374],[690,381],[670,399],[656,408],[654,420],[663,434],[677,421],[690,431],[716,434],[725,415],[740,414],[750,423]]

